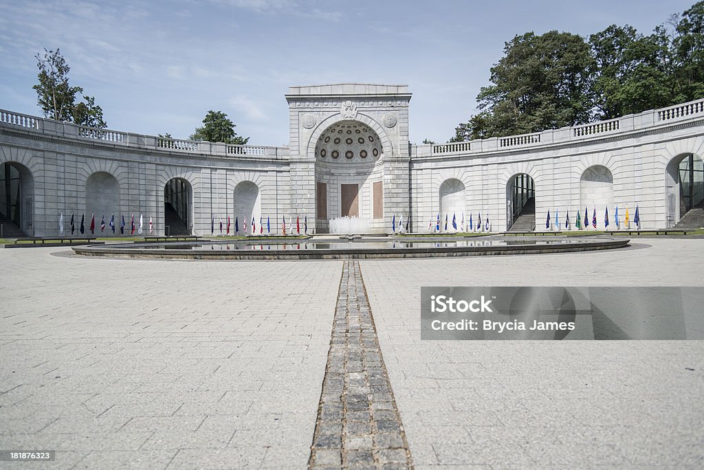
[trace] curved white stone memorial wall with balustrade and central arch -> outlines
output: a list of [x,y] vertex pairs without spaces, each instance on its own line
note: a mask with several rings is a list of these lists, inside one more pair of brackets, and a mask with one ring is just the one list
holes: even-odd
[[[410,217],[411,231],[426,232],[438,213],[444,225],[450,210],[450,220],[460,210],[467,220],[470,212],[489,215],[492,231],[503,231],[512,223],[510,182],[522,173],[534,182],[539,230],[548,210],[561,218],[569,211],[574,224],[585,205],[590,217],[596,205],[603,229],[599,206],[607,204],[610,212],[619,206],[621,221],[628,206],[631,224],[637,205],[642,229],[665,228],[681,217],[673,165],[704,153],[704,101],[537,134],[416,146],[408,142],[410,98],[405,85],[291,87],[288,147],[161,139],[0,110],[0,164],[19,171],[20,225],[28,236],[58,234],[61,212],[67,231],[72,213],[76,224],[85,213],[88,224],[96,212],[99,226],[105,212],[106,220],[115,214],[116,235],[122,215],[129,226],[132,213],[135,220],[151,216],[154,233],[164,234],[164,188],[173,178],[189,187],[189,231],[209,236],[213,219],[220,234],[220,217],[225,224],[230,216],[231,234],[235,217],[240,234],[244,218],[250,233],[252,218],[259,232],[260,217],[264,224],[269,218],[272,234],[281,233],[283,217],[288,233],[296,217],[301,232],[307,218],[313,233],[355,212],[375,231],[391,231],[396,215]],[[327,191],[322,198],[319,187]],[[325,217],[316,218],[320,213]]]

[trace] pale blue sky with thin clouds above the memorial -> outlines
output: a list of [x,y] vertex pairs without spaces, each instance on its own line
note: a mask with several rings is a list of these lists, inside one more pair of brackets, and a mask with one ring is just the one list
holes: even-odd
[[42,114],[34,55],[59,47],[111,129],[186,139],[213,109],[287,145],[289,86],[363,82],[408,84],[410,141],[446,141],[515,34],[648,34],[693,3],[0,0],[0,108]]

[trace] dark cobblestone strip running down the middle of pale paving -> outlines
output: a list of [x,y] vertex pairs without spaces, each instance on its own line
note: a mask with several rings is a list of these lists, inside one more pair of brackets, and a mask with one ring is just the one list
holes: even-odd
[[408,469],[413,462],[359,262],[346,260],[308,468],[358,467]]

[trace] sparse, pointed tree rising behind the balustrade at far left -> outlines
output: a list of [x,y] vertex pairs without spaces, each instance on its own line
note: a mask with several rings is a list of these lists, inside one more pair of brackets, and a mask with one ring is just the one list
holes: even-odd
[[[90,127],[107,127],[103,109],[96,105],[95,97],[84,95],[82,87],[69,84],[68,72],[71,68],[59,49],[49,51],[44,48],[44,54],[37,53],[35,58],[39,83],[32,88],[37,91],[37,103],[45,116]],[[84,102],[76,103],[79,94]]]

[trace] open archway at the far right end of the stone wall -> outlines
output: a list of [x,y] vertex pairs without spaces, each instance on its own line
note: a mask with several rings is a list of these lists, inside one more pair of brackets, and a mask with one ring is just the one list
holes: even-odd
[[693,153],[670,160],[665,170],[667,228],[704,225],[704,162]]

